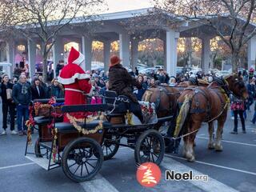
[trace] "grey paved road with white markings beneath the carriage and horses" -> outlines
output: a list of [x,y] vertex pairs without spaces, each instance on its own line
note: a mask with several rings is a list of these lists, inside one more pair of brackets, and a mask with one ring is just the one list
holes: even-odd
[[[61,168],[46,171],[26,159],[26,137],[10,135],[9,130],[9,134],[0,137],[0,191],[255,191],[256,134],[253,131],[256,127],[247,120],[247,134],[242,134],[240,128],[238,135],[229,133],[232,127],[229,119],[223,134],[223,152],[206,149],[208,134],[207,126],[203,125],[196,139],[197,162],[186,162],[181,153],[166,155],[162,162],[162,178],[165,170],[194,170],[196,174],[209,175],[209,182],[162,179],[154,188],[142,187],[136,181],[134,151],[129,148],[121,147],[113,159],[103,162],[102,170],[91,182],[74,183],[66,178]],[[34,134],[33,139],[36,137]]]

